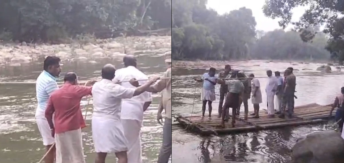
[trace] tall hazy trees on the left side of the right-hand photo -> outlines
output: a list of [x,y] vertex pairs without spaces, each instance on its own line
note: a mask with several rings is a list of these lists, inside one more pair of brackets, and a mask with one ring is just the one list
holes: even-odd
[[206,1],[172,1],[174,59],[238,59],[247,57],[256,21],[246,8],[218,15]]

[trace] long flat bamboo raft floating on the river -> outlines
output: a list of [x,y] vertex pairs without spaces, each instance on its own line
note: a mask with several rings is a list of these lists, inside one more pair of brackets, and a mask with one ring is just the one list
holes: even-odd
[[[230,110],[232,109],[230,108]],[[274,118],[268,118],[266,110],[261,109],[259,118],[248,116],[247,120],[244,120],[244,113],[241,112],[239,116],[236,116],[236,123],[233,128],[231,119],[225,122],[225,128],[223,128],[221,126],[222,120],[217,117],[217,114],[213,114],[211,118],[207,116],[202,118],[201,115],[182,116],[178,114],[175,118],[184,129],[207,136],[322,123],[328,120],[330,110],[331,105],[302,105],[294,108],[294,116],[292,118],[286,116],[285,119],[281,119],[278,118],[278,115],[275,115]],[[253,112],[248,114],[250,115],[251,113]],[[232,116],[230,115],[230,117]],[[334,117],[334,114],[332,114],[332,117]]]

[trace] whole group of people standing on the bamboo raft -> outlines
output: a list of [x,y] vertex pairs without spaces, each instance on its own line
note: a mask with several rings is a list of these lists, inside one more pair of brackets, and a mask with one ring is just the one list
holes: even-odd
[[[267,94],[267,111],[268,117],[273,118],[275,114],[279,114],[279,118],[285,118],[285,109],[288,106],[288,117],[291,118],[294,110],[294,95],[296,78],[293,74],[293,68],[289,67],[284,71],[284,79],[280,72],[275,72],[275,77],[272,76],[272,71],[266,71],[268,82],[266,85]],[[230,75],[227,79],[227,76]],[[209,72],[204,73],[202,78],[196,79],[198,82],[203,82],[202,90],[202,116],[204,117],[206,104],[208,103],[209,117],[212,113],[212,102],[215,100],[215,85],[221,84],[220,100],[218,106],[218,117],[222,117],[222,125],[224,121],[228,121],[229,108],[232,108],[232,126],[235,126],[235,117],[240,114],[240,105],[244,103],[245,115],[244,119],[248,118],[248,99],[251,98],[254,113],[253,118],[259,118],[259,104],[262,103],[262,94],[260,90],[260,82],[253,73],[248,77],[243,71],[233,71],[230,65],[226,65],[224,71],[216,74],[216,69],[211,67]],[[274,98],[277,98],[274,104]],[[225,98],[226,97],[226,98]],[[226,99],[223,105],[224,99]],[[275,106],[277,111],[275,110]]]

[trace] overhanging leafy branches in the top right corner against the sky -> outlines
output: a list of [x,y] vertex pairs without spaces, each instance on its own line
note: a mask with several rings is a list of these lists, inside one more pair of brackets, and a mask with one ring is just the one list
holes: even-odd
[[[299,6],[309,6],[298,22],[291,22],[291,10]],[[313,26],[324,25],[324,33],[329,34],[328,45],[326,47],[332,54],[333,59],[344,60],[344,1],[343,0],[268,0],[263,11],[271,18],[282,18],[280,26],[286,27],[288,24],[295,25],[295,30],[300,31],[300,36],[304,42],[308,42],[317,34],[316,31],[309,30]]]

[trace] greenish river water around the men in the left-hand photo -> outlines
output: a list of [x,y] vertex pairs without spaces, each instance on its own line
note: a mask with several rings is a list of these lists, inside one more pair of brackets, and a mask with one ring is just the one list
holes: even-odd
[[[88,80],[100,77],[100,70],[106,63],[112,63],[116,68],[123,67],[121,60],[104,58],[96,61],[95,64],[87,61],[64,62],[59,81],[63,80],[64,73],[68,71],[76,72],[79,80]],[[138,58],[138,68],[148,75],[162,74],[166,70],[166,65],[163,57],[146,55]],[[36,80],[42,69],[42,61],[20,67],[0,68],[0,81],[32,82]],[[0,84],[0,92],[0,163],[38,162],[44,155],[45,148],[34,118],[37,106],[35,85]],[[155,120],[159,100],[159,95],[154,94],[151,106],[144,113],[141,141],[145,163],[157,162],[162,143],[162,126]],[[92,105],[92,100],[90,104]],[[85,114],[85,108],[88,108],[85,106],[87,99],[82,101],[82,105],[83,114]],[[86,124],[91,124],[91,112],[88,112]],[[83,129],[82,135],[86,162],[94,162],[91,126]],[[115,155],[108,155],[106,162],[116,162]]]

